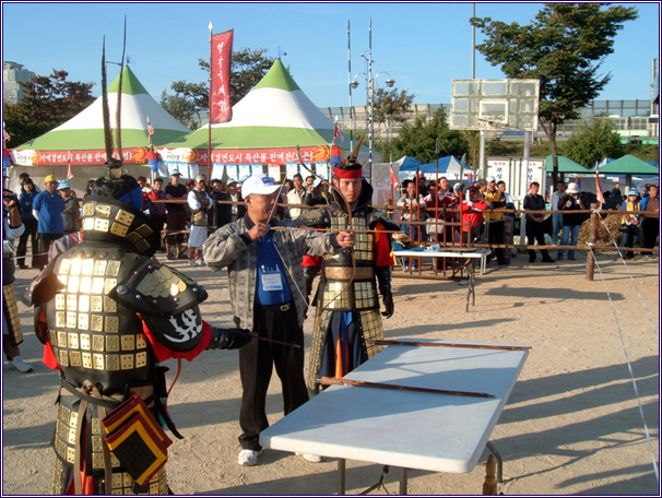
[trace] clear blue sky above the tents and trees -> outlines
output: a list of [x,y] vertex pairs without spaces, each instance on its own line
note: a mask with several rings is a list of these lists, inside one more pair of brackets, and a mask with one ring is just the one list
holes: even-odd
[[[660,2],[625,3],[639,19],[625,23],[615,52],[602,64],[612,73],[599,99],[650,98],[651,60],[660,52]],[[528,24],[542,3],[475,3],[476,16]],[[209,59],[210,21],[214,33],[235,29],[234,47],[279,47],[293,78],[317,106],[348,105],[347,21],[351,22],[352,75],[364,72],[368,26],[373,20],[373,74],[388,72],[414,103],[450,103],[453,79],[470,79],[472,3],[29,3],[2,2],[2,57],[37,74],[66,70],[72,81],[95,83],[101,93],[101,56],[119,61],[127,15],[131,69],[150,94],[161,99],[173,81],[202,82],[198,59]],[[476,44],[482,36],[476,29]],[[108,67],[113,80],[119,67]],[[501,79],[476,51],[475,76]],[[376,78],[383,85],[387,74]],[[366,100],[365,76],[353,104]]]

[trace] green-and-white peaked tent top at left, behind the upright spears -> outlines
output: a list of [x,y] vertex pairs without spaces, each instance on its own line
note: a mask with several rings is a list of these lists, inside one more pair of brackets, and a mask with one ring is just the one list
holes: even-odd
[[[119,75],[108,86],[113,138],[117,130]],[[146,164],[150,146],[147,118],[154,128],[154,145],[162,145],[189,131],[170,116],[138,81],[127,66],[122,72],[121,141],[126,164]],[[23,166],[97,165],[106,161],[102,97],[69,121],[13,151],[14,164]]]

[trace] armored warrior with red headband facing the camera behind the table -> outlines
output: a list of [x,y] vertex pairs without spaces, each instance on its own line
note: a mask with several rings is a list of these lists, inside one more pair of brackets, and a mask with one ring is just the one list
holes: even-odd
[[297,218],[305,226],[356,230],[354,250],[327,257],[317,290],[308,386],[317,392],[320,377],[341,378],[380,351],[374,340],[383,339],[377,289],[386,318],[393,315],[391,293],[391,237],[398,230],[369,203],[373,187],[363,179],[356,154],[333,167],[329,206],[310,210]]

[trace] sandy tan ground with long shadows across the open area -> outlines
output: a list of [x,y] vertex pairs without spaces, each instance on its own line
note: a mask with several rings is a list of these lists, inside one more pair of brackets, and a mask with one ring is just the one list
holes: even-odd
[[[476,304],[464,311],[466,286],[456,281],[394,280],[395,315],[388,339],[495,341],[532,346],[490,440],[504,459],[506,495],[659,495],[659,261],[637,259],[625,268],[613,253],[599,259],[604,275],[584,277],[586,257],[552,265],[512,264],[477,277]],[[210,293],[208,321],[230,325],[227,277],[174,265]],[[398,273],[402,273],[399,271]],[[21,292],[35,271],[17,272]],[[42,345],[31,310],[21,305],[23,357],[35,371],[2,368],[3,495],[49,493],[57,374],[40,363]],[[307,345],[311,319],[305,324]],[[314,464],[265,451],[255,467],[237,465],[240,384],[237,352],[205,352],[185,363],[169,406],[184,440],[170,447],[169,484],[181,495],[332,495],[336,461]],[[636,389],[628,370],[631,366]],[[174,363],[168,379],[174,374]],[[638,394],[637,394],[638,392]],[[641,412],[639,404],[641,404]],[[268,395],[271,423],[282,416],[277,378]],[[643,415],[643,419],[642,419]],[[647,429],[650,442],[647,439]],[[470,474],[410,471],[416,495],[482,493],[484,454]],[[375,484],[381,466],[348,461],[346,489]],[[391,469],[386,490],[398,493]]]

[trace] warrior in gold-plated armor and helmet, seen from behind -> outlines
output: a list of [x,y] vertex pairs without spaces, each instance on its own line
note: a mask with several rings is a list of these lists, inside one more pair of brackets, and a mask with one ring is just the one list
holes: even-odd
[[149,478],[135,475],[135,461],[152,454],[150,440],[133,441],[135,461],[123,460],[109,449],[104,417],[138,393],[180,437],[165,410],[159,363],[250,341],[202,320],[206,292],[153,258],[159,229],[141,211],[135,179],[119,176],[96,180],[83,204],[82,241],[54,257],[25,298],[35,306],[44,360],[60,371],[54,494],[168,494],[165,460]]

